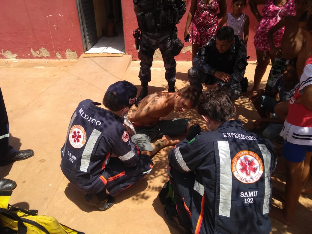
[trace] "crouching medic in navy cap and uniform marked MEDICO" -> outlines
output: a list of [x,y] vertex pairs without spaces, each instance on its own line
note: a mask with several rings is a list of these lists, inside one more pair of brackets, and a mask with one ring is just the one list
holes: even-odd
[[85,200],[100,210],[114,196],[148,174],[152,160],[131,141],[134,128],[124,117],[134,104],[137,88],[128,81],[108,87],[103,104],[81,101],[71,117],[61,149],[61,169],[86,193]]

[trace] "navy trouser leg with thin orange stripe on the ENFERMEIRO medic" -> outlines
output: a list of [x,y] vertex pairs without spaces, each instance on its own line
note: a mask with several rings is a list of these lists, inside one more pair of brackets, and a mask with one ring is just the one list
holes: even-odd
[[[172,177],[169,176],[169,179],[178,211],[178,220],[183,227],[191,231],[192,218],[189,212],[191,212],[191,196],[194,188],[195,175],[192,172],[187,174],[180,173],[174,168],[171,168],[170,174]],[[188,207],[189,211],[185,206]]]

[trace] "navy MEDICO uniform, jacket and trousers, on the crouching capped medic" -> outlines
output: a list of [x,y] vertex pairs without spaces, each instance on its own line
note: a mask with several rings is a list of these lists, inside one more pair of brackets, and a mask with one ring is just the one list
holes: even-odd
[[72,115],[61,149],[61,169],[81,191],[107,189],[115,196],[149,173],[153,162],[130,140],[124,118],[97,105],[84,100]]

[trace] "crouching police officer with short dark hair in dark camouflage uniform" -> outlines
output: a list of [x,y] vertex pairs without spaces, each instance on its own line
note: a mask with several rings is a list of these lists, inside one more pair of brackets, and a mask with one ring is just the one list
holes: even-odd
[[[197,90],[202,90],[202,83],[225,86],[231,92],[232,100],[236,100],[248,86],[248,80],[244,78],[246,65],[246,45],[234,35],[231,27],[224,26],[217,31],[216,37],[199,49],[188,70],[188,79]],[[244,81],[247,84],[242,90]]]

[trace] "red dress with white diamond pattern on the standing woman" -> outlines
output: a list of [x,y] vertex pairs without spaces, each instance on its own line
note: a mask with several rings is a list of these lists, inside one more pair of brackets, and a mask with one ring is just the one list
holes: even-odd
[[210,41],[211,37],[216,36],[218,8],[219,0],[212,0],[209,4],[205,4],[202,0],[197,0],[197,8],[190,30],[190,42],[205,45]]

